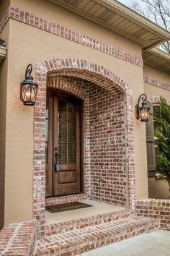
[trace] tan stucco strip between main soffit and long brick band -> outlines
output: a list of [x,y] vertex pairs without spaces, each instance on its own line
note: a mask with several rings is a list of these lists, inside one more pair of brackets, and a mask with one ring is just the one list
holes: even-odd
[[114,33],[113,31],[98,25],[95,22],[91,22],[84,17],[81,17],[73,12],[69,12],[67,9],[53,4],[47,0],[11,0],[13,7],[19,7],[24,11],[36,14],[51,22],[57,22],[71,30],[89,35],[91,38],[96,38],[104,43],[108,43],[111,46],[122,48],[125,51],[141,58],[140,45],[138,43],[132,43],[131,40]]

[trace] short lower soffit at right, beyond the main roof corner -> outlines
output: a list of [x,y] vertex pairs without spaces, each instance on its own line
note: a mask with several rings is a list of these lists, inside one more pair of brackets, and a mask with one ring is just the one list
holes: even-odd
[[153,67],[170,74],[170,55],[158,48],[153,48],[143,52],[143,61]]

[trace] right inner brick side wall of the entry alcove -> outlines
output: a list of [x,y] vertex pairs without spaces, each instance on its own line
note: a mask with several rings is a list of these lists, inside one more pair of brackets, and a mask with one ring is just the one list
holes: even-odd
[[89,90],[91,198],[128,206],[125,164],[125,93]]

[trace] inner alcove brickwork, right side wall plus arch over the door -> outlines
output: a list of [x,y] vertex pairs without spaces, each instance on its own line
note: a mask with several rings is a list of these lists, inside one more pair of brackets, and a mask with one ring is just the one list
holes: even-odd
[[48,87],[67,90],[84,100],[86,195],[94,200],[128,206],[125,93],[112,96],[98,85],[76,77],[49,77]]

